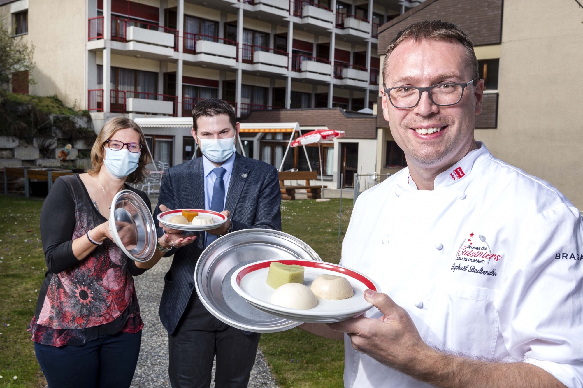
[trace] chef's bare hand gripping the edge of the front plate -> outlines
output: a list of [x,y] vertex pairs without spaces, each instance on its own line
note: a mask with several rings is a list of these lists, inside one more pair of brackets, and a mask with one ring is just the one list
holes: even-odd
[[330,329],[347,333],[354,349],[404,373],[415,370],[420,358],[434,352],[423,342],[405,309],[387,294],[367,290],[364,298],[384,315],[377,319],[353,318],[328,323]]

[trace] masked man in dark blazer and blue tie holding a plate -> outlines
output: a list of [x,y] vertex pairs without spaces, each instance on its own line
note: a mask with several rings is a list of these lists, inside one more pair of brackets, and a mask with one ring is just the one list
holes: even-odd
[[[223,211],[230,219],[215,230],[195,232],[192,244],[165,255],[174,255],[159,310],[168,330],[168,373],[173,388],[208,388],[216,355],[216,387],[243,388],[261,334],[235,329],[211,315],[194,291],[194,269],[203,249],[224,234],[247,228],[281,230],[278,171],[235,151],[239,123],[225,101],[202,101],[192,119],[192,136],[203,157],[166,171],[154,218],[166,209],[210,209]],[[181,233],[158,228],[159,236],[164,232]],[[192,238],[192,232],[184,234]]]

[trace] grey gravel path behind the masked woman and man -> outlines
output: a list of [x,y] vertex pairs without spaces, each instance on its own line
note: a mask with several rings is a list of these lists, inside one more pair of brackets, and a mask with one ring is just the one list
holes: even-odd
[[[134,278],[144,329],[142,331],[142,348],[132,388],[170,387],[168,380],[168,334],[158,317],[158,306],[164,287],[164,274],[170,268],[170,262],[170,259],[162,258],[152,269]],[[213,366],[213,380],[214,378],[215,368]],[[215,384],[211,383],[210,387],[214,386]],[[248,387],[278,388],[260,350],[257,352]]]

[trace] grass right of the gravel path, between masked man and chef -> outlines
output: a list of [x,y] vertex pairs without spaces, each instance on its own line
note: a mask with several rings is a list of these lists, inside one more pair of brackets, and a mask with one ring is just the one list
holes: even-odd
[[[342,201],[342,231],[346,231],[352,199]],[[338,264],[339,199],[331,202],[282,202],[282,230],[310,245],[325,262]],[[343,234],[340,236],[342,242]],[[344,386],[344,343],[317,337],[301,329],[262,334],[259,347],[282,388]],[[299,362],[298,362],[299,361]]]

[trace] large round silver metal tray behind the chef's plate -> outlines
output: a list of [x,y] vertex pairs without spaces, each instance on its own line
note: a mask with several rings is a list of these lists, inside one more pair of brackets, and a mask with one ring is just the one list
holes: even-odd
[[196,293],[208,311],[222,322],[255,333],[293,329],[301,322],[261,312],[231,287],[231,275],[245,264],[259,260],[322,259],[300,239],[270,229],[245,229],[212,242],[196,263]]

